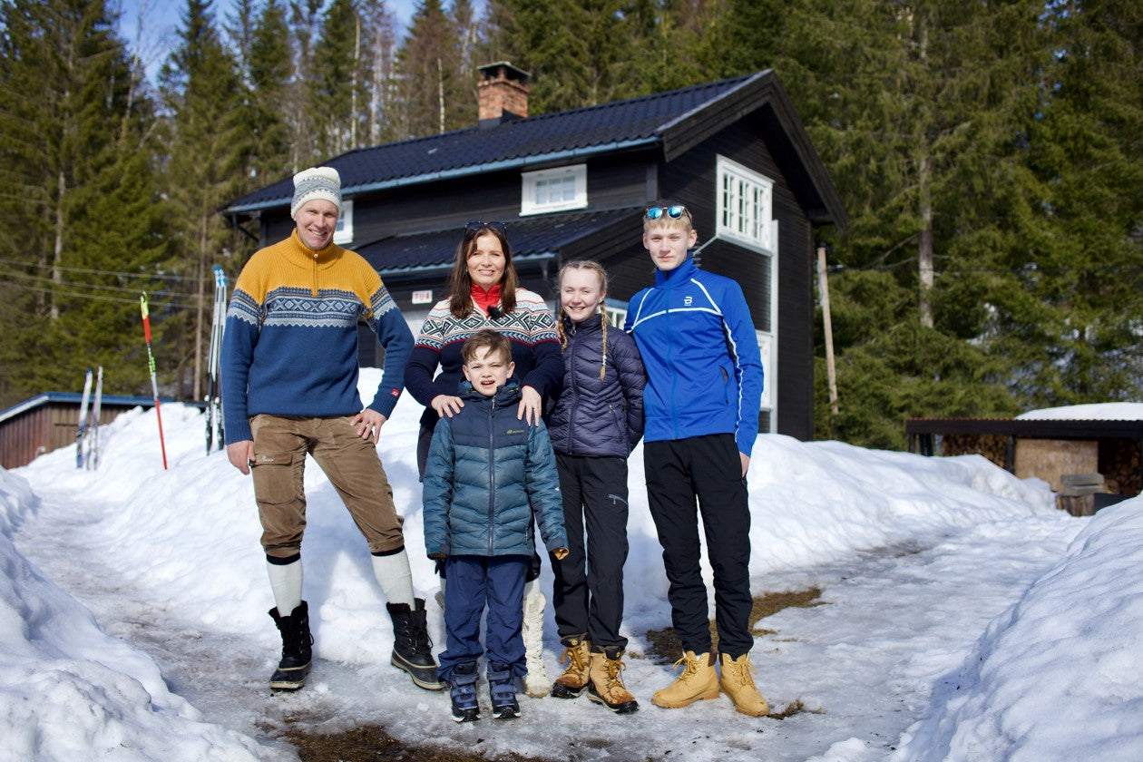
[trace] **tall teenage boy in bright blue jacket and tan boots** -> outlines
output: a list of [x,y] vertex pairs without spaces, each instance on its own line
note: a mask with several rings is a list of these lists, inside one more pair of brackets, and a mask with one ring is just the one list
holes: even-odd
[[[661,202],[644,216],[644,247],[655,284],[631,298],[624,330],[647,369],[644,467],[647,500],[663,546],[671,619],[682,674],[652,697],[668,708],[717,698],[744,714],[769,706],[754,687],[750,649],[750,506],[746,467],[758,436],[762,364],[754,326],[734,280],[703,272],[689,249],[690,212]],[[711,650],[706,585],[695,500],[714,570],[721,677]]]

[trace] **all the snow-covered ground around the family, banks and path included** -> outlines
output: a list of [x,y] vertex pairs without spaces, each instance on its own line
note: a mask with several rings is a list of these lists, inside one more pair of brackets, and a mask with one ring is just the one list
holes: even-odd
[[[403,400],[378,449],[414,585],[431,599],[418,415]],[[672,675],[646,658],[645,635],[670,615],[638,450],[625,677],[639,713],[521,698],[520,720],[457,725],[447,695],[389,666],[367,551],[312,463],[304,560],[317,661],[299,693],[265,688],[280,643],[253,490],[224,454],[205,455],[202,426],[193,409],[163,408],[168,471],[154,414],[142,411],[105,430],[98,472],[77,471],[70,448],[0,471],[0,760],[289,760],[278,740],[287,719],[558,760],[1143,759],[1140,499],[1076,519],[1045,484],[976,456],[762,436],[750,471],[754,591],[822,595],[759,623],[752,660],[776,711],[804,711],[751,719],[725,697],[668,711],[649,700]],[[547,625],[554,677],[550,611]]]

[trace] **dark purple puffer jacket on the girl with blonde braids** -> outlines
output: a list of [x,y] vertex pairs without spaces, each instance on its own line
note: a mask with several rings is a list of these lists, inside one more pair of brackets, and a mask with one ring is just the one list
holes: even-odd
[[642,436],[642,390],[647,383],[634,340],[607,327],[607,359],[600,379],[604,331],[600,316],[563,320],[563,391],[547,423],[552,449],[563,455],[626,458]]

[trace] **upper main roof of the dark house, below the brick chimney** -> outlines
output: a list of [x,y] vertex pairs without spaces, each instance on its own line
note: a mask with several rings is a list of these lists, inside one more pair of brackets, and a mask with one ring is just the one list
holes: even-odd
[[[789,96],[769,70],[628,101],[358,149],[323,165],[337,169],[343,193],[352,198],[415,183],[566,163],[636,147],[657,146],[671,159],[764,103],[773,107],[821,198],[823,211],[815,212],[815,218],[825,215],[844,228],[848,217],[837,190],[793,113]],[[222,211],[238,215],[287,206],[291,195],[293,181],[283,177],[231,201]]]

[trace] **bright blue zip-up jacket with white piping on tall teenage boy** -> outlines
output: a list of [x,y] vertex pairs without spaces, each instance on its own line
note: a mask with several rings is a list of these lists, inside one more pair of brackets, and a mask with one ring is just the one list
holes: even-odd
[[734,434],[738,451],[751,454],[762,360],[737,282],[700,270],[688,256],[631,298],[623,329],[647,369],[644,441]]

